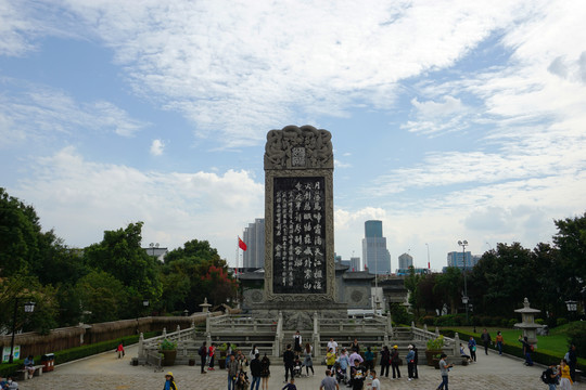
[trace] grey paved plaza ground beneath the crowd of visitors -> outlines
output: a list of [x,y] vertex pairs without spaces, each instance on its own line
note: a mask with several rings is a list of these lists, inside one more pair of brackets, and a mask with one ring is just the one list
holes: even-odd
[[[95,389],[95,390],[123,390],[123,389],[162,389],[165,381],[165,373],[153,372],[149,366],[131,366],[130,358],[137,355],[137,347],[127,348],[126,358],[116,359],[114,352],[98,356],[62,364],[54,372],[44,373],[27,381],[20,382],[21,390],[62,390],[62,389]],[[282,389],[284,370],[279,359],[272,361],[271,377],[269,378],[270,390]],[[440,372],[433,367],[420,366],[418,380],[408,381],[407,367],[402,370],[402,379],[381,380],[382,389],[429,389],[437,388],[441,381]],[[316,366],[316,375],[297,378],[297,389],[319,389],[319,384],[326,372],[326,366]],[[484,355],[479,353],[477,363],[469,366],[456,366],[449,373],[450,389],[547,389],[539,376],[543,367],[526,367],[523,362],[496,353]],[[173,366],[167,367],[176,378],[179,390],[222,390],[227,389],[227,374],[225,370],[200,374],[200,367]],[[367,380],[366,389],[369,389],[370,380]],[[576,384],[574,389],[586,389],[586,385]],[[342,387],[341,389],[347,389]]]

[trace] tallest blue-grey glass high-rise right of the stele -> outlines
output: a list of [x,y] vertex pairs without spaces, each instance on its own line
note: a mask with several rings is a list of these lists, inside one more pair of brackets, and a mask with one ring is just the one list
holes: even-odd
[[382,221],[365,222],[362,259],[369,273],[391,273],[391,255],[386,249],[386,237],[382,235]]

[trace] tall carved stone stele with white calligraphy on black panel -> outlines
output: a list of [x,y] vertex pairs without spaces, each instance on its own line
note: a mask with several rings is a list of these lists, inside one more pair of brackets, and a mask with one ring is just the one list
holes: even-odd
[[333,309],[332,135],[311,126],[267,133],[264,309]]

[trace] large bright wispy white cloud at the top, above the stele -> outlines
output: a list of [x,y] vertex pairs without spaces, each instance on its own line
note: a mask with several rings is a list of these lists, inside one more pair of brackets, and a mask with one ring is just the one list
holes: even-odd
[[507,1],[66,4],[115,50],[137,93],[229,146],[258,143],[273,123],[390,107],[397,81],[453,65],[524,11]]

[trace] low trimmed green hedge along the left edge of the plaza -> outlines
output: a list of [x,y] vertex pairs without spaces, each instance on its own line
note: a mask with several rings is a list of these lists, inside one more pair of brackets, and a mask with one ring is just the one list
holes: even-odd
[[[144,334],[144,338],[151,338],[158,336],[161,332],[150,332]],[[55,362],[54,364],[63,364],[67,362],[72,362],[78,359],[91,356],[98,353],[107,352],[107,351],[115,351],[118,344],[122,342],[125,346],[137,343],[139,340],[139,336],[126,336],[122,338],[117,338],[114,340],[109,341],[102,341],[102,342],[95,342],[88,346],[81,346],[81,347],[75,347],[71,349],[66,349],[63,351],[55,352]],[[41,356],[35,356],[35,363],[39,364],[41,362]],[[13,363],[3,363],[0,364],[0,376],[8,377],[8,376],[14,376],[18,369],[21,369],[24,365],[24,359],[15,360]]]

